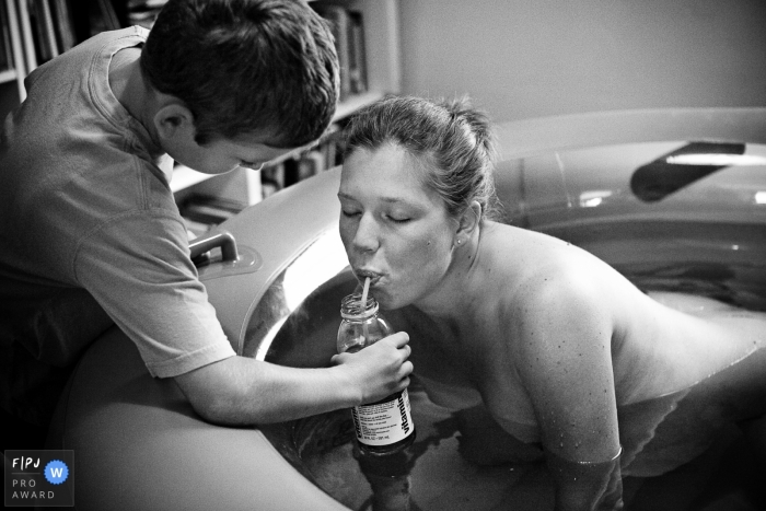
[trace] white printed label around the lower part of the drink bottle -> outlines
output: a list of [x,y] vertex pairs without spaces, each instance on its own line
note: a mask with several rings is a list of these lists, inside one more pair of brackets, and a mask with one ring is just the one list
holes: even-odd
[[374,446],[391,445],[413,434],[415,427],[407,390],[395,395],[394,399],[351,409],[359,442]]

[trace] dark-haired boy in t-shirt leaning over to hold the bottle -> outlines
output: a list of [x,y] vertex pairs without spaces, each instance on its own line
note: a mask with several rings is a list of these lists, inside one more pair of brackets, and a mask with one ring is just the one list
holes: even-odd
[[404,388],[405,334],[329,369],[236,357],[169,188],[172,160],[260,167],[325,130],[338,63],[304,2],[170,0],[151,33],[95,36],[26,88],[0,138],[5,410],[45,427],[72,362],[113,322],[210,421],[288,420]]

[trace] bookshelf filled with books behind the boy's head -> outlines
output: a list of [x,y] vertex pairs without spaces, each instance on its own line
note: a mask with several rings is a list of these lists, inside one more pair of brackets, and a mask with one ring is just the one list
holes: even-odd
[[[151,27],[166,0],[0,0],[0,118],[26,94],[24,78],[37,66],[103,30]],[[246,207],[281,187],[339,163],[337,131],[353,112],[401,91],[399,0],[313,0],[335,24],[341,60],[341,100],[334,125],[305,154],[272,167],[210,176],[178,165],[171,182],[179,209],[194,197]],[[182,209],[183,213],[183,209]]]

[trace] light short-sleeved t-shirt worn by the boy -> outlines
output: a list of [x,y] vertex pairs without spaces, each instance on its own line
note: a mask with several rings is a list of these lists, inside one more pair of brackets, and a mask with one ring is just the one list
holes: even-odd
[[0,397],[11,411],[28,374],[71,364],[111,321],[153,376],[235,355],[189,259],[172,161],[108,85],[112,57],[147,35],[103,33],[37,68],[5,119]]

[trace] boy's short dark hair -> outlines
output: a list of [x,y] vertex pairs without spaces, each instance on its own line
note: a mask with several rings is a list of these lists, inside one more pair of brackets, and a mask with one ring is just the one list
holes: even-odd
[[170,0],[141,69],[192,111],[199,144],[266,132],[270,146],[305,146],[338,100],[333,36],[301,0]]

